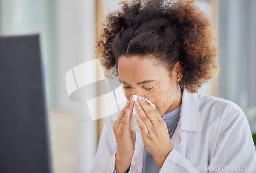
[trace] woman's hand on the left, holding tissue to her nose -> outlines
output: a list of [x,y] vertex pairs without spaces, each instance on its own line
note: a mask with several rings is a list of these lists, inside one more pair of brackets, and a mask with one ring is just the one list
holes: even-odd
[[[113,125],[117,143],[116,156],[124,160],[132,160],[135,149],[136,134],[130,129],[130,117],[133,112],[133,107],[134,100],[133,96],[131,96],[129,102],[124,106]],[[122,121],[122,123],[120,121]]]

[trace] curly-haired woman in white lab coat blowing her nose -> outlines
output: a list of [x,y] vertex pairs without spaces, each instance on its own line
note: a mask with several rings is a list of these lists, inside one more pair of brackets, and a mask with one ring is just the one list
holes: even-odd
[[[96,48],[129,102],[105,122],[91,172],[256,171],[241,108],[197,93],[219,67],[210,22],[193,2],[123,2]],[[141,133],[129,127],[134,106]]]

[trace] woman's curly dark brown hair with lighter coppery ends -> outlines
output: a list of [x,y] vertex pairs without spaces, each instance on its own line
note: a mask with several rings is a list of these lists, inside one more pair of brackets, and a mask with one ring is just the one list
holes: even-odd
[[197,92],[219,71],[216,38],[210,21],[194,1],[122,1],[106,15],[96,53],[106,77],[117,77],[120,56],[154,55],[170,71],[182,62],[180,87]]

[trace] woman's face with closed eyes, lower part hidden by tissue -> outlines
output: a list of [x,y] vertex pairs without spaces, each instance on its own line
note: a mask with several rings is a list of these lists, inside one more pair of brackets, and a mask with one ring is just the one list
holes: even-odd
[[157,60],[146,56],[121,56],[118,59],[118,78],[127,100],[139,95],[150,100],[162,116],[181,104],[181,90],[177,79],[181,79],[180,61],[175,64],[172,75]]

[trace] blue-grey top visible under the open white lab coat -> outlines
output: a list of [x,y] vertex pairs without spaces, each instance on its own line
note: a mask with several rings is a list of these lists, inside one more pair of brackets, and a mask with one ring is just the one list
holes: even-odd
[[[170,138],[172,138],[174,130],[178,124],[180,118],[180,109],[181,105],[173,110],[172,112],[166,113],[162,116],[163,120],[165,121]],[[146,150],[144,146],[144,161],[143,161],[143,168],[142,173],[158,173],[160,167],[155,162],[154,158],[151,156],[150,153]]]

